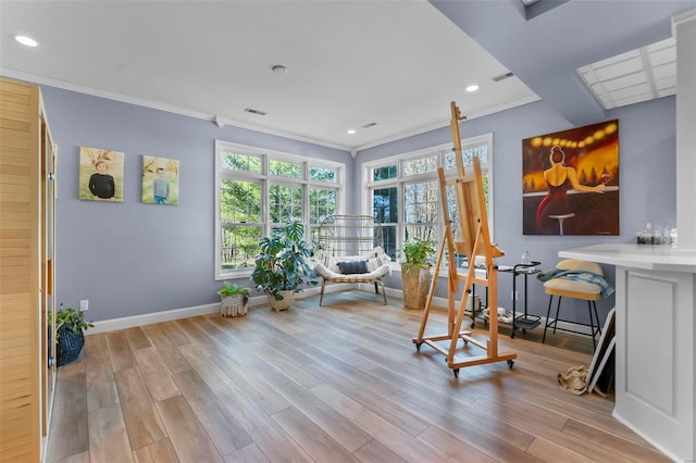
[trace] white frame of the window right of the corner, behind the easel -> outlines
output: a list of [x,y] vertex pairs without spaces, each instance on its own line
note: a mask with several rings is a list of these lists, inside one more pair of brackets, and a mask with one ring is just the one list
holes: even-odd
[[[469,138],[464,138],[461,140],[461,148],[462,148],[462,153],[469,149],[475,149],[475,148],[480,148],[482,146],[486,146],[487,147],[487,162],[486,163],[482,163],[481,168],[482,168],[482,174],[484,176],[487,177],[487,218],[488,218],[488,228],[490,232],[490,239],[492,241],[495,242],[494,239],[494,232],[495,232],[495,227],[494,227],[494,146],[493,146],[493,133],[487,133],[487,134],[482,134],[482,135],[477,135],[474,137],[469,137]],[[412,225],[410,223],[408,223],[406,220],[406,205],[405,205],[405,200],[406,200],[406,187],[407,185],[413,185],[413,184],[422,184],[422,183],[427,183],[427,182],[435,182],[437,184],[439,184],[438,180],[438,176],[437,176],[437,168],[440,166],[445,166],[445,158],[446,154],[449,152],[452,152],[453,148],[452,148],[452,143],[443,143],[443,145],[437,145],[434,147],[428,147],[428,148],[424,148],[424,149],[420,149],[417,151],[411,151],[411,152],[406,152],[406,153],[400,153],[400,154],[395,154],[388,158],[382,158],[375,161],[371,161],[371,162],[366,162],[363,164],[363,185],[365,186],[364,188],[364,198],[363,198],[363,211],[365,211],[364,213],[368,215],[374,215],[374,210],[373,210],[373,192],[375,190],[378,189],[385,189],[385,188],[394,188],[396,187],[397,190],[397,204],[398,204],[398,212],[397,212],[397,218],[398,222],[396,224],[393,223],[387,223],[387,224],[383,224],[383,225],[387,225],[387,226],[391,226],[391,225],[396,225],[397,227],[397,233],[396,233],[396,249],[401,249],[403,247],[403,241],[405,241],[405,236],[406,236],[406,227],[408,225]],[[417,159],[424,159],[424,158],[428,158],[431,155],[433,155],[433,153],[436,153],[436,168],[434,172],[428,172],[428,173],[420,173],[420,174],[413,174],[413,175],[405,175],[403,173],[403,164],[405,162],[410,162]],[[373,180],[373,171],[376,168],[382,168],[382,167],[387,167],[389,165],[396,164],[396,177],[394,178],[387,178],[387,179],[381,179],[381,180]],[[451,177],[456,175],[456,168],[446,168],[445,170],[445,176],[446,177]],[[439,188],[439,187],[438,187]],[[444,237],[445,234],[445,224],[443,222],[443,214],[442,214],[442,198],[437,198],[437,224],[436,224],[436,234],[437,234],[437,239],[438,242],[442,242],[442,239]],[[397,256],[398,258],[398,256]],[[399,262],[398,259],[396,259],[393,262],[395,268],[399,268]]]

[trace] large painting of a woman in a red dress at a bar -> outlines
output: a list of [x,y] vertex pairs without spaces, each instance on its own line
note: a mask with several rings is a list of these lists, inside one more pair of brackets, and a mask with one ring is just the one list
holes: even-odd
[[619,235],[619,121],[522,140],[524,235]]

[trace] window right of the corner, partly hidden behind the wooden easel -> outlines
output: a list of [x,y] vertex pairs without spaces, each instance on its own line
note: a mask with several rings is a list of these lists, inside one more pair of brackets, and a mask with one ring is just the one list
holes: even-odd
[[[488,225],[493,234],[493,134],[462,140],[464,170],[473,165],[473,157],[481,161]],[[442,145],[414,153],[405,153],[365,165],[370,192],[368,208],[385,230],[385,251],[396,259],[396,250],[412,238],[442,242],[445,234],[439,198],[437,168],[445,176],[456,175],[455,152],[451,145]],[[468,170],[467,172],[472,172]],[[447,187],[447,208],[452,220],[452,235],[460,239],[457,199],[452,186]]]

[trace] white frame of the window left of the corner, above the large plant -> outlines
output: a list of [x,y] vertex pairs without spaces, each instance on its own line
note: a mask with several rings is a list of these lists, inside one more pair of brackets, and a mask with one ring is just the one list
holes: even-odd
[[[249,171],[235,171],[223,168],[222,166],[222,153],[224,152],[238,152],[241,154],[249,154],[261,158],[261,172],[254,173]],[[263,149],[259,147],[235,143],[225,140],[215,140],[214,153],[215,157],[215,227],[214,227],[214,278],[215,280],[234,279],[249,276],[253,267],[244,268],[222,268],[222,217],[221,217],[221,185],[225,179],[240,180],[240,182],[256,182],[261,185],[261,209],[260,209],[260,226],[262,236],[270,236],[274,224],[271,222],[271,204],[270,204],[270,189],[272,185],[282,186],[299,186],[302,189],[302,204],[301,216],[302,224],[304,225],[306,239],[311,239],[311,220],[310,215],[312,210],[310,209],[310,189],[321,188],[336,191],[336,208],[335,214],[340,214],[345,210],[345,189],[344,189],[344,176],[346,165],[340,162],[332,162],[322,159],[307,158],[297,154],[286,153],[282,151],[274,151]],[[281,162],[298,163],[302,166],[302,176],[300,177],[286,177],[282,175],[273,175],[270,173],[271,160]],[[310,179],[310,168],[322,167],[335,171],[335,182],[322,182]],[[254,224],[256,225],[256,224]]]

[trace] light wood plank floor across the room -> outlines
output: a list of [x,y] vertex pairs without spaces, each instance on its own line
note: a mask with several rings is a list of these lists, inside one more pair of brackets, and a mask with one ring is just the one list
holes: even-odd
[[[421,311],[370,292],[318,300],[87,336],[59,368],[48,461],[669,461],[611,417],[611,398],[559,387],[589,363],[588,338],[501,327],[514,367],[455,378],[415,351]],[[428,334],[445,322],[432,314]]]

